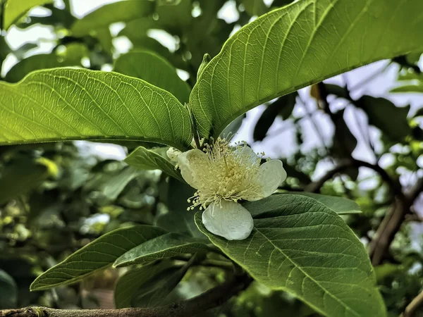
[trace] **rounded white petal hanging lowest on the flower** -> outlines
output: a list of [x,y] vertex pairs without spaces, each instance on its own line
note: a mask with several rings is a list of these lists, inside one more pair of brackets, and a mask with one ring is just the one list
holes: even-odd
[[202,213],[202,222],[214,235],[227,240],[244,240],[252,232],[254,223],[250,211],[235,201],[210,204]]

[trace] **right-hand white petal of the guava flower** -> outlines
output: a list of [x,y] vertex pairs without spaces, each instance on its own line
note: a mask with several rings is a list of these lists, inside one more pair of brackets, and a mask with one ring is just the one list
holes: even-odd
[[243,199],[256,201],[269,197],[286,180],[286,170],[280,160],[268,161],[259,168],[259,173],[255,179],[255,185],[259,187],[255,192],[243,195]]

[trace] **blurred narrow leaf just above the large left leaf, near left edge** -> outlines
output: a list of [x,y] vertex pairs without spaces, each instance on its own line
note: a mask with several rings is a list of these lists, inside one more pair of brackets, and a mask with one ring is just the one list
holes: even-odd
[[53,52],[29,56],[16,63],[6,74],[7,82],[18,82],[34,70],[43,68],[56,68],[64,66],[82,66],[81,59],[88,55],[85,45],[73,43],[66,46],[63,53]]

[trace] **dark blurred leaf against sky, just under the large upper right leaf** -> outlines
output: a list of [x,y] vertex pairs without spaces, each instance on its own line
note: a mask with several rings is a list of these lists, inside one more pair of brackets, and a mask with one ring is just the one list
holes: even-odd
[[293,113],[297,94],[297,92],[287,94],[267,106],[255,125],[252,134],[255,141],[262,141],[264,137],[266,137],[267,131],[269,131],[269,128],[273,125],[276,116],[281,116],[283,120],[289,118],[291,113]]

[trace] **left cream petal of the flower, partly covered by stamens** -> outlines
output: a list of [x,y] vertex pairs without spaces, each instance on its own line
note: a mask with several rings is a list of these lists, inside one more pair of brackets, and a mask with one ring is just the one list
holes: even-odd
[[188,182],[191,187],[200,188],[202,184],[197,178],[197,173],[204,173],[204,168],[207,166],[207,155],[199,149],[192,149],[179,154],[177,159],[180,175],[185,182]]

